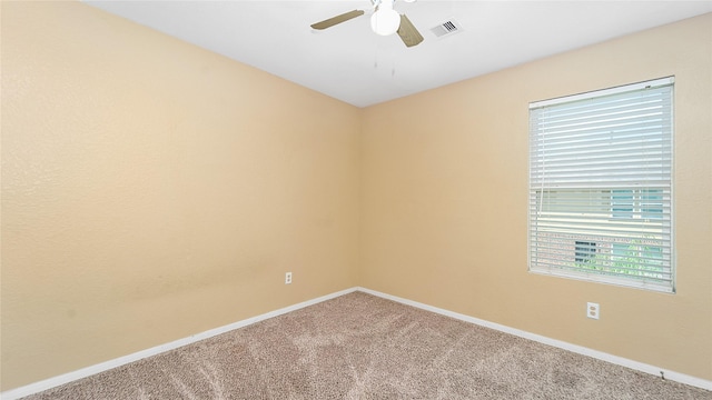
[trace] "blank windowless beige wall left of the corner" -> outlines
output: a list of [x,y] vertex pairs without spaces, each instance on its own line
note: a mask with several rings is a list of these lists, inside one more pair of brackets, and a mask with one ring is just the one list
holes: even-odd
[[353,287],[362,112],[2,1],[2,389]]

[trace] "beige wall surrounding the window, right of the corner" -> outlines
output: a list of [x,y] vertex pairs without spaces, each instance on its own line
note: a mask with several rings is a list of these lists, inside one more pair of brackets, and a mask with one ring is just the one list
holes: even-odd
[[[711,71],[708,14],[366,109],[360,284],[712,379]],[[666,76],[678,293],[528,273],[528,102]]]

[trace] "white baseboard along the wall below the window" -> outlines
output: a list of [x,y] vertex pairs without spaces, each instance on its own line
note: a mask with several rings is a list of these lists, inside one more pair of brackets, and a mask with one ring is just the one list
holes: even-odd
[[561,341],[561,340],[556,340],[556,339],[552,339],[552,338],[547,338],[547,337],[543,337],[541,334],[536,334],[536,333],[531,333],[527,331],[523,331],[520,329],[514,329],[514,328],[510,328],[503,324],[498,324],[498,323],[494,323],[494,322],[490,322],[490,321],[485,321],[485,320],[481,320],[478,318],[474,318],[474,317],[469,317],[469,316],[465,316],[465,314],[461,314],[457,312],[453,312],[449,310],[445,310],[445,309],[441,309],[437,307],[433,307],[433,306],[428,306],[428,304],[424,304],[417,301],[413,301],[413,300],[408,300],[408,299],[403,299],[396,296],[390,296],[390,294],[386,294],[386,293],[382,293],[375,290],[370,290],[370,289],[366,289],[366,288],[357,288],[358,291],[363,291],[364,293],[368,293],[368,294],[373,294],[373,296],[377,296],[384,299],[388,299],[388,300],[393,300],[403,304],[407,304],[407,306],[413,306],[415,308],[419,308],[426,311],[432,311],[438,314],[443,314],[443,316],[447,316],[447,317],[452,317],[455,319],[458,319],[461,321],[465,321],[465,322],[469,322],[469,323],[474,323],[474,324],[478,324],[485,328],[491,328],[494,330],[498,330],[501,332],[505,332],[505,333],[510,333],[510,334],[514,334],[524,339],[528,339],[528,340],[533,340],[540,343],[544,343],[544,344],[548,344],[548,346],[553,346],[560,349],[564,349],[564,350],[568,350],[578,354],[583,354],[583,356],[589,356],[602,361],[606,361],[613,364],[617,364],[617,366],[622,366],[622,367],[626,367],[633,370],[637,370],[641,372],[645,372],[645,373],[650,373],[650,374],[654,374],[656,377],[661,377],[661,372],[664,373],[664,378],[671,381],[675,381],[675,382],[680,382],[680,383],[684,383],[684,384],[690,384],[693,386],[695,388],[702,388],[702,389],[706,389],[706,390],[712,390],[712,381],[706,380],[706,379],[702,379],[702,378],[696,378],[696,377],[692,377],[689,374],[684,374],[684,373],[680,373],[680,372],[675,372],[675,371],[671,371],[664,368],[660,368],[660,367],[655,367],[655,366],[651,366],[651,364],[646,364],[643,362],[639,362],[639,361],[634,361],[634,360],[630,360],[623,357],[619,357],[619,356],[613,356],[613,354],[609,354],[606,352],[603,351],[599,351],[599,350],[593,350],[593,349],[589,349],[585,348],[583,346],[577,346],[577,344],[573,344],[573,343],[568,343],[565,341]]

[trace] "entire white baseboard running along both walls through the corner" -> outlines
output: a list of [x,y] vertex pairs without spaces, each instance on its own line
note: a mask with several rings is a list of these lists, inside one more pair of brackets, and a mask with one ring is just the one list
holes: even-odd
[[505,332],[505,333],[510,333],[510,334],[514,334],[524,339],[528,339],[528,340],[533,340],[540,343],[544,343],[544,344],[548,344],[548,346],[553,346],[560,349],[564,349],[564,350],[568,350],[568,351],[573,351],[575,353],[580,353],[583,356],[589,356],[602,361],[606,361],[606,362],[611,362],[614,364],[619,364],[622,367],[626,367],[633,370],[637,370],[641,372],[646,372],[646,373],[651,373],[654,376],[660,377],[661,372],[664,373],[665,379],[672,380],[672,381],[676,381],[680,383],[685,383],[685,384],[690,384],[696,388],[702,388],[702,389],[706,389],[706,390],[712,390],[712,381],[702,379],[702,378],[696,378],[696,377],[692,377],[689,374],[684,374],[684,373],[680,373],[680,372],[675,372],[675,371],[671,371],[671,370],[666,370],[663,368],[659,368],[655,366],[651,366],[651,364],[646,364],[643,362],[637,362],[634,360],[630,360],[623,357],[619,357],[619,356],[613,356],[613,354],[609,354],[602,351],[597,351],[597,350],[593,350],[593,349],[589,349],[582,346],[577,346],[577,344],[572,344],[565,341],[561,341],[561,340],[556,340],[556,339],[551,339],[547,337],[543,337],[540,334],[535,334],[535,333],[531,333],[531,332],[526,332],[520,329],[514,329],[514,328],[510,328],[503,324],[498,324],[498,323],[494,323],[494,322],[490,322],[490,321],[485,321],[485,320],[481,320],[478,318],[474,318],[474,317],[469,317],[469,316],[465,316],[465,314],[461,314],[454,311],[449,311],[449,310],[445,310],[445,309],[441,309],[437,307],[433,307],[433,306],[428,306],[428,304],[424,304],[417,301],[413,301],[413,300],[408,300],[408,299],[404,299],[404,298],[399,298],[396,296],[390,296],[390,294],[386,294],[386,293],[382,293],[375,290],[370,290],[370,289],[366,289],[366,288],[360,288],[360,287],[355,287],[355,288],[350,288],[350,289],[345,289],[335,293],[330,293],[330,294],[326,294],[316,299],[312,299],[312,300],[307,300],[294,306],[289,306],[289,307],[285,307],[281,308],[279,310],[275,310],[275,311],[270,311],[267,313],[264,313],[261,316],[257,316],[257,317],[253,317],[253,318],[248,318],[246,320],[241,320],[235,323],[230,323],[220,328],[216,328],[216,329],[211,329],[201,333],[197,333],[194,334],[191,337],[188,338],[184,338],[184,339],[179,339],[169,343],[165,343],[165,344],[160,344],[150,349],[146,349],[146,350],[141,350],[138,352],[135,352],[132,354],[128,354],[128,356],[123,356],[123,357],[119,357],[117,359],[113,360],[109,360],[106,362],[101,362],[95,366],[90,366],[87,368],[82,368],[80,370],[73,371],[73,372],[69,372],[69,373],[65,373],[58,377],[53,377],[50,379],[46,379],[39,382],[34,382],[34,383],[30,383],[28,386],[23,386],[17,389],[11,389],[8,391],[4,391],[2,393],[0,393],[0,399],[2,400],[14,400],[14,399],[19,399],[26,396],[30,396],[30,394],[34,394],[34,393],[39,393],[41,391],[44,390],[49,390],[52,388],[56,388],[58,386],[65,384],[65,383],[69,383],[82,378],[87,378],[90,377],[92,374],[99,373],[99,372],[103,372],[103,371],[108,371],[110,369],[117,368],[117,367],[121,367],[125,366],[127,363],[134,362],[134,361],[138,361],[151,356],[157,356],[160,353],[164,353],[166,351],[170,351],[174,349],[177,349],[179,347],[186,346],[186,344],[190,344],[190,343],[195,343],[197,341],[200,340],[205,340],[225,332],[229,332],[231,330],[235,329],[239,329],[239,328],[244,328],[247,327],[249,324],[259,322],[259,321],[264,321],[266,319],[269,318],[274,318],[277,316],[281,316],[285,314],[287,312],[291,312],[298,309],[303,309],[305,307],[308,306],[313,306],[326,300],[330,300],[334,298],[337,298],[339,296],[344,296],[354,291],[363,291],[364,293],[368,293],[368,294],[373,294],[373,296],[377,296],[384,299],[388,299],[388,300],[393,300],[403,304],[407,304],[407,306],[413,306],[426,311],[432,311],[435,313],[439,313],[443,316],[447,316],[447,317],[452,317],[465,322],[469,322],[469,323],[474,323],[474,324],[478,324],[482,327],[486,327],[486,328],[491,328],[494,330],[498,330],[501,332]]

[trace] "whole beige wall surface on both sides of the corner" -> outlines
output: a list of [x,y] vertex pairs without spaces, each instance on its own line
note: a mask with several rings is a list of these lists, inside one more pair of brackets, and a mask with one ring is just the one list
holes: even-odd
[[[83,4],[2,2],[2,390],[356,284],[712,379],[711,34],[359,110]],[[527,103],[669,74],[678,293],[527,273]]]

